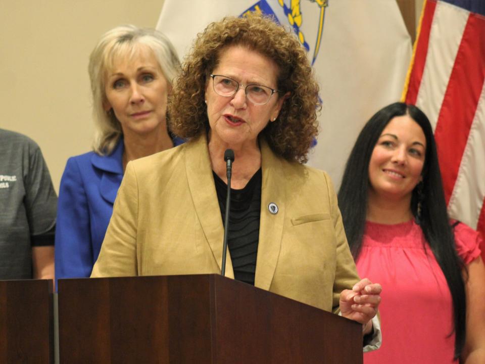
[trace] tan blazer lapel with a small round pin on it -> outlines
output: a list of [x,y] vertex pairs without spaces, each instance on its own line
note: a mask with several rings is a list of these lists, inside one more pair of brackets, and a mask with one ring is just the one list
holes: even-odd
[[[255,286],[269,291],[281,249],[286,190],[281,160],[274,155],[264,138],[260,138],[260,146],[263,180]],[[276,204],[277,213],[270,212],[270,203]]]

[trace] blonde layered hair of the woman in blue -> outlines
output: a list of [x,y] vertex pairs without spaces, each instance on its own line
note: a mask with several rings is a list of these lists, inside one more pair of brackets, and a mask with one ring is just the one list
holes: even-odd
[[132,60],[143,49],[150,49],[171,85],[180,70],[180,61],[172,43],[155,29],[141,29],[121,25],[106,32],[89,56],[92,112],[95,125],[93,150],[100,155],[110,154],[123,135],[121,124],[112,109],[106,111],[106,77],[119,59]]

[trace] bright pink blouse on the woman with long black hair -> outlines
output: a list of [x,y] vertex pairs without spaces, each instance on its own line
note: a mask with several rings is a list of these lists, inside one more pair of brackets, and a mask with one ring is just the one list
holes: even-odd
[[[479,240],[465,224],[455,227],[456,249],[465,264],[480,255]],[[450,290],[414,220],[368,221],[356,264],[361,277],[382,285],[382,346],[365,353],[364,364],[457,362]]]

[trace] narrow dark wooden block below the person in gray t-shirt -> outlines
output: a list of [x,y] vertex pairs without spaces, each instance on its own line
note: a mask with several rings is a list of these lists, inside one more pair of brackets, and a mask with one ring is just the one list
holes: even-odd
[[54,363],[53,283],[0,281],[0,363]]

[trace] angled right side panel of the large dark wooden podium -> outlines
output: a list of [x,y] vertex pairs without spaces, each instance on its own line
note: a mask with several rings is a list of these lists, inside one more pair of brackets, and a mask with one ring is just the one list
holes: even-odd
[[361,325],[244,283],[213,278],[215,362],[362,362]]

